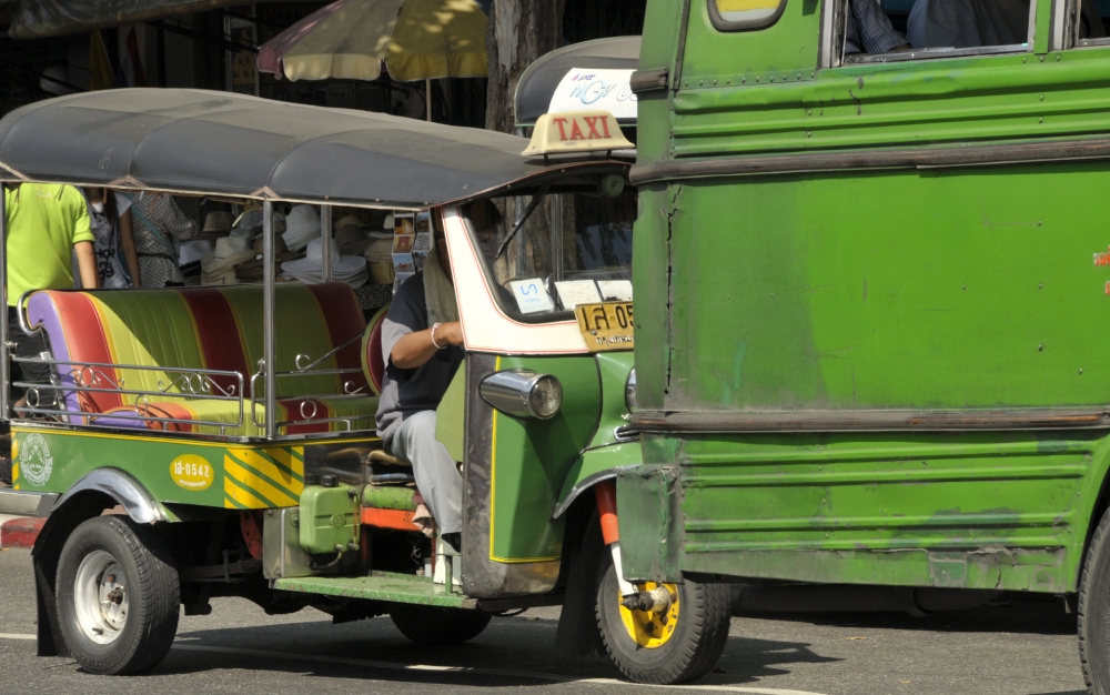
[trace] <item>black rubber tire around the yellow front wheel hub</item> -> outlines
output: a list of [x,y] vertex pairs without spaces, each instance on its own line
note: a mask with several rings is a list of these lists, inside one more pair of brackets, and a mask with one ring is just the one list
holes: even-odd
[[628,679],[650,685],[689,683],[707,674],[720,658],[731,618],[728,586],[685,582],[678,585],[678,627],[666,644],[646,649],[628,636],[617,603],[617,575],[604,550],[595,613],[605,651]]

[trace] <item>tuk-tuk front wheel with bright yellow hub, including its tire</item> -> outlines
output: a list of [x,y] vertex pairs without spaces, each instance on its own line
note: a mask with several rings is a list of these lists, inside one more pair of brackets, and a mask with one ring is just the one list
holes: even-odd
[[713,668],[728,639],[728,587],[718,584],[647,583],[639,591],[663,588],[669,595],[660,611],[629,610],[620,588],[609,548],[603,551],[602,580],[595,612],[605,648],[629,679],[673,685],[695,681]]

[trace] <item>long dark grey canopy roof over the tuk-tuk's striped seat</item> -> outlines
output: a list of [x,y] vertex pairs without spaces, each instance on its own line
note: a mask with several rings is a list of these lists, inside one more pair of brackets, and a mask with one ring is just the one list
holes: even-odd
[[524,160],[527,144],[230,92],[121,89],[40,101],[0,120],[0,180],[418,209],[554,169]]

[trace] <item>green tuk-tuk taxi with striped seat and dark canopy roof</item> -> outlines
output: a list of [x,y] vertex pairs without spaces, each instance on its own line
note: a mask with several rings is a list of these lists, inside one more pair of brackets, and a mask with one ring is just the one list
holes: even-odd
[[[629,429],[628,147],[603,112],[552,114],[529,143],[193,90],[78,94],[0,121],[9,184],[255,201],[263,213],[261,285],[19,299],[23,330],[47,333],[51,352],[16,361],[53,376],[17,384],[28,399],[0,510],[48,515],[33,548],[40,654],[98,674],[150,669],[179,604],[203,615],[211,597],[236,595],[336,622],[389,614],[435,644],[562,604],[569,652],[601,649],[647,683],[708,671],[727,590],[620,572],[645,562],[622,553],[628,511],[614,487],[643,461]],[[466,357],[436,436],[464,481],[461,553],[416,523],[412,464],[376,434],[385,311],[367,321],[326,266],[319,284],[278,281],[284,203],[321,207],[324,258],[334,205],[427,214],[445,235]]]

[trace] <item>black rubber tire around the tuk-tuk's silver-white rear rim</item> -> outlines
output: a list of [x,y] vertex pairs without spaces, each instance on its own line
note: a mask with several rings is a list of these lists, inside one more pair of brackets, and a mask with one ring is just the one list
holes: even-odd
[[[130,613],[120,636],[107,645],[81,633],[73,602],[81,560],[98,550],[115,557],[128,577]],[[82,668],[98,675],[125,675],[162,663],[178,632],[181,588],[171,557],[164,540],[151,526],[127,516],[98,516],[73,530],[62,546],[54,595],[62,638]]]

